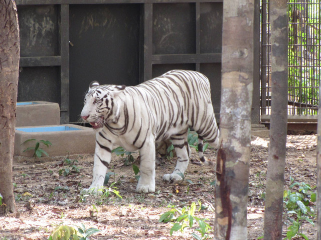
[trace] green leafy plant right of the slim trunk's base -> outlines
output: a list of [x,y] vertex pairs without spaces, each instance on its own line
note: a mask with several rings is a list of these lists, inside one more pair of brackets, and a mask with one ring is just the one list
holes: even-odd
[[283,193],[283,202],[287,209],[287,218],[291,223],[287,228],[288,231],[284,239],[292,239],[292,237],[295,236],[308,239],[307,236],[303,234],[302,223],[307,221],[314,225],[312,218],[315,217],[315,212],[310,205],[316,201],[316,193],[313,191],[315,186],[311,187],[304,182],[293,181],[293,178],[290,177],[290,182],[292,183],[289,187],[290,189],[284,190]]

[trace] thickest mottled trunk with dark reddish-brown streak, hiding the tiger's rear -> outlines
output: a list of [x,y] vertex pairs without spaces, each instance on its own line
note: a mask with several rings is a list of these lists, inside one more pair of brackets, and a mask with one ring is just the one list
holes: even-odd
[[247,239],[254,0],[224,0],[215,239]]

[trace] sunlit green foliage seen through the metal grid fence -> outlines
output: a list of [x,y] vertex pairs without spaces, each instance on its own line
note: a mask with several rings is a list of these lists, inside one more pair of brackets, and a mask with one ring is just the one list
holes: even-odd
[[[311,0],[311,2],[317,0]],[[320,70],[315,60],[320,53],[320,30],[313,29],[319,21],[319,9],[314,4],[296,3],[289,0],[289,52],[288,93],[290,100],[318,106]],[[313,6],[314,5],[314,6]],[[306,27],[302,27],[306,21]],[[304,23],[305,24],[305,23]],[[317,114],[317,109],[297,109],[299,114]]]

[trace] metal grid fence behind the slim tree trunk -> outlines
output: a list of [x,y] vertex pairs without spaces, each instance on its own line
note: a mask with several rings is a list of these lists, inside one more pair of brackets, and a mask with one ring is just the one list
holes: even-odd
[[[321,2],[288,1],[288,119],[315,121],[319,104]],[[261,4],[261,121],[271,113],[269,3]]]

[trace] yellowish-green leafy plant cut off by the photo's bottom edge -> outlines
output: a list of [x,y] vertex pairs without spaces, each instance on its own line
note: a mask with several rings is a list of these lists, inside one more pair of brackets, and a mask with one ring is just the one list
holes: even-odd
[[89,240],[88,236],[98,231],[100,230],[93,227],[86,229],[83,223],[76,227],[61,223],[53,230],[48,240]]

